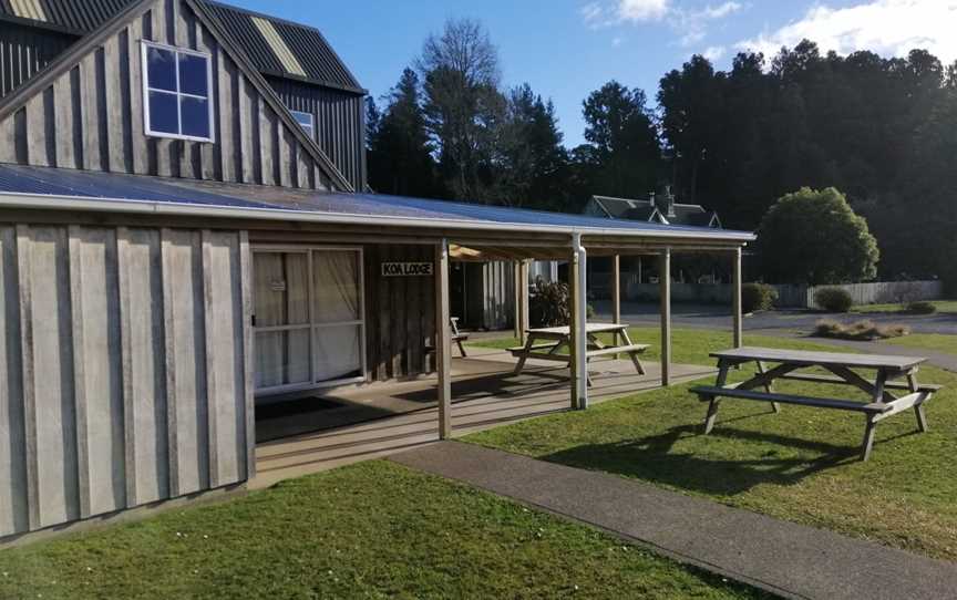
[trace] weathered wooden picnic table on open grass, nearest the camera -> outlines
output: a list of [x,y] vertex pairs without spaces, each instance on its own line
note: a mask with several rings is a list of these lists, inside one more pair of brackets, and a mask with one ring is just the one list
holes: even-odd
[[[710,355],[718,359],[716,384],[691,389],[701,401],[709,403],[708,415],[704,417],[706,434],[711,433],[714,427],[722,397],[770,402],[775,413],[780,412],[780,404],[857,412],[866,417],[864,443],[861,448],[862,461],[871,457],[877,423],[887,417],[914,408],[918,428],[922,433],[926,432],[927,415],[924,412],[924,404],[940,390],[939,385],[917,383],[918,366],[927,361],[923,358],[748,346],[711,352]],[[727,383],[730,369],[751,362],[758,365],[758,373],[754,376],[741,383]],[[769,369],[769,363],[775,365]],[[799,372],[815,366],[830,374]],[[858,371],[873,371],[874,379],[865,377]],[[851,385],[866,393],[868,401],[779,394],[772,389],[774,380]],[[895,395],[899,392],[905,393]]]

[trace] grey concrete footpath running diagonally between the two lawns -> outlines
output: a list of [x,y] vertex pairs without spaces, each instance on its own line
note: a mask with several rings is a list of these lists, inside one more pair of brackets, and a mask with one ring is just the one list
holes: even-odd
[[432,444],[391,459],[589,524],[785,598],[957,598],[955,562],[615,475],[460,442]]

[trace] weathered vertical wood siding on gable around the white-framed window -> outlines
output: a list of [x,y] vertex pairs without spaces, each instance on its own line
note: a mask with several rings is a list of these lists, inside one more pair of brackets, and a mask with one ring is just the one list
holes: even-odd
[[[213,143],[145,136],[142,40],[210,54]],[[330,187],[290,128],[178,0],[157,0],[0,122],[0,163]]]

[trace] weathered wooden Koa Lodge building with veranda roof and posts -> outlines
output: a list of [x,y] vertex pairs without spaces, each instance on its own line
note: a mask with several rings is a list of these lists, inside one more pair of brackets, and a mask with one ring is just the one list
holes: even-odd
[[243,485],[276,393],[436,371],[447,436],[451,257],[572,261],[584,344],[586,252],[752,239],[364,194],[361,86],[224,4],[0,2],[0,538]]

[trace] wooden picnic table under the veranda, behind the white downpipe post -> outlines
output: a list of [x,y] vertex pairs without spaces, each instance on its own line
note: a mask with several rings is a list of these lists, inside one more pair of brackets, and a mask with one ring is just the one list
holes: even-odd
[[[648,344],[632,343],[628,337],[628,327],[626,323],[586,323],[585,334],[588,337],[586,360],[590,361],[600,356],[628,354],[635,364],[635,370],[638,371],[639,375],[644,375],[645,366],[641,364],[638,355],[648,350]],[[525,368],[525,361],[528,359],[564,362],[570,366],[572,356],[558,353],[562,348],[568,348],[572,344],[570,327],[529,329],[526,333],[527,340],[525,341],[525,345],[508,349],[508,352],[513,356],[518,358],[518,364],[515,365],[516,375]],[[611,334],[613,342],[610,344],[603,342],[598,338],[601,333]],[[591,385],[590,376],[588,377],[588,385]]]

